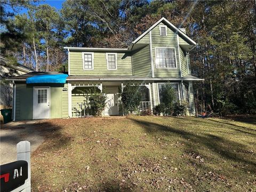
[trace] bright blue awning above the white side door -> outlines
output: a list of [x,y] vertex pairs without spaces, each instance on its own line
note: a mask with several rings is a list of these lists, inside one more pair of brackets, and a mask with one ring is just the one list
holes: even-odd
[[67,77],[67,74],[35,75],[28,77],[26,83],[66,83]]

